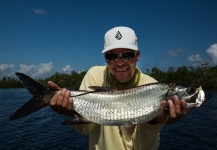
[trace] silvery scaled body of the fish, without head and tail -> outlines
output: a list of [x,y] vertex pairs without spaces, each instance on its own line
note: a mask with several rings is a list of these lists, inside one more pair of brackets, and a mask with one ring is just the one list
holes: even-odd
[[[166,84],[150,84],[128,90],[75,96],[74,110],[87,120],[102,125],[131,125],[152,120],[169,89]],[[147,96],[146,96],[147,95]]]

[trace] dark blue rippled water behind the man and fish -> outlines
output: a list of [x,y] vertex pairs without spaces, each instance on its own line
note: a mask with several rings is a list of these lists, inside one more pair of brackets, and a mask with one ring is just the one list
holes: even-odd
[[[210,92],[212,98],[202,107],[176,124],[164,125],[160,150],[217,149],[217,92]],[[9,121],[9,116],[30,98],[23,88],[0,89],[0,149],[88,149],[88,136],[61,125],[65,117],[50,107]]]

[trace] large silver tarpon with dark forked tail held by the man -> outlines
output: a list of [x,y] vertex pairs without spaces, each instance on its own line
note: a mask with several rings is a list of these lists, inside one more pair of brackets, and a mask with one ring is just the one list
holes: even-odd
[[[9,118],[10,120],[24,117],[48,106],[56,93],[25,74],[16,73],[16,75],[33,98],[18,109]],[[161,101],[169,100],[174,95],[184,99],[187,108],[199,107],[206,101],[202,87],[187,88],[167,83],[146,84],[126,90],[71,91],[73,115],[63,124],[134,125],[146,123],[157,116]]]

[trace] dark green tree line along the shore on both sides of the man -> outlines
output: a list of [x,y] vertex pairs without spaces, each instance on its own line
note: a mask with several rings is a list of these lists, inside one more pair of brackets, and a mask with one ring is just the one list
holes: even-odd
[[[181,85],[202,85],[206,89],[217,89],[217,66],[210,67],[204,64],[200,67],[182,66],[178,68],[170,67],[168,71],[162,71],[157,67],[146,69],[146,73],[158,81],[168,83],[178,83]],[[47,84],[51,80],[61,87],[78,90],[86,71],[71,74],[55,73],[49,78],[40,79],[39,82]],[[0,80],[0,88],[20,88],[23,85],[18,79],[4,77]]]

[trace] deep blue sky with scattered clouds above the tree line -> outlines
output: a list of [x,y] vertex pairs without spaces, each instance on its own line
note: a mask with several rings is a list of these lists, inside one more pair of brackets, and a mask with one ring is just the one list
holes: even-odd
[[0,78],[106,65],[104,34],[132,28],[138,67],[217,65],[216,0],[0,0]]

